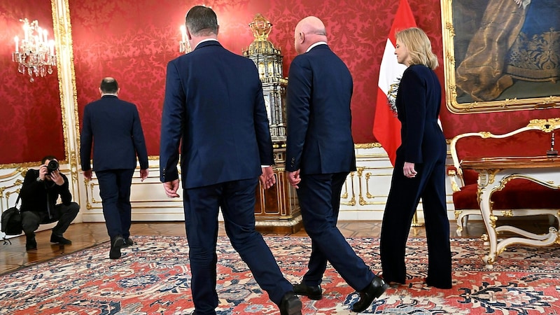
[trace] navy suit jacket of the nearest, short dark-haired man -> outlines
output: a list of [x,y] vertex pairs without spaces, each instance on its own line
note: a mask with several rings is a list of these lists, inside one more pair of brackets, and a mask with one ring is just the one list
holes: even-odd
[[160,179],[183,188],[256,179],[274,164],[262,84],[255,64],[218,41],[167,64]]

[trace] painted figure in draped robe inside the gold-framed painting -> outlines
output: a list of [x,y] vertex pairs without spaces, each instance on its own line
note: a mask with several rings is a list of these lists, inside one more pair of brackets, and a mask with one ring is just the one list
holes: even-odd
[[[560,78],[560,1],[491,0],[456,69],[458,97],[491,101],[516,80]],[[553,86],[553,85],[551,85]],[[543,85],[544,87],[544,85]],[[517,97],[535,97],[519,91]],[[543,90],[547,97],[557,91]],[[550,93],[550,94],[547,94]]]

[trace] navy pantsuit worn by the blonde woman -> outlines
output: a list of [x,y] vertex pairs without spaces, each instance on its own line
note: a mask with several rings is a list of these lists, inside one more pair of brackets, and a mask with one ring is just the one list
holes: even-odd
[[[427,283],[451,287],[445,203],[447,145],[437,124],[440,104],[441,86],[434,71],[423,65],[409,66],[402,75],[396,98],[401,145],[381,228],[381,267],[386,282],[405,283],[406,242],[422,198],[429,255]],[[414,163],[416,177],[409,179],[403,174],[405,162]]]

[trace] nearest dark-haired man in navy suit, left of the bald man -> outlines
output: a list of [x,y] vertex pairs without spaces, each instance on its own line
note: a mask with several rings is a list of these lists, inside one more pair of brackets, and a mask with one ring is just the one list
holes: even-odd
[[191,290],[195,314],[216,314],[218,209],[232,246],[282,315],[302,303],[255,230],[255,189],[275,183],[272,141],[258,71],[251,59],[217,41],[216,13],[195,6],[186,15],[187,55],[167,65],[160,176],[168,197],[179,197],[179,143]]

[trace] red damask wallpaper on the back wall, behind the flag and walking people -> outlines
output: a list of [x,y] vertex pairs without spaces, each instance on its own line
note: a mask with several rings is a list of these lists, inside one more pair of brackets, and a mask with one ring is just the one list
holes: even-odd
[[[158,155],[160,117],[165,87],[165,66],[179,56],[179,26],[197,1],[78,1],[70,0],[73,44],[80,111],[99,97],[103,76],[116,76],[120,96],[138,105],[148,141],[148,153]],[[284,75],[295,57],[293,29],[307,15],[321,18],[329,45],[346,62],[354,79],[353,136],[358,144],[376,141],[372,135],[374,99],[381,54],[398,0],[210,0],[218,15],[221,43],[241,54],[252,41],[248,23],[256,13],[272,22],[270,40],[281,48]],[[409,0],[416,23],[433,42],[442,64],[439,0]],[[444,84],[443,66],[437,69]],[[441,120],[447,139],[472,130],[507,132],[526,125],[530,118],[560,116],[560,110],[510,111],[457,115],[442,102]]]

